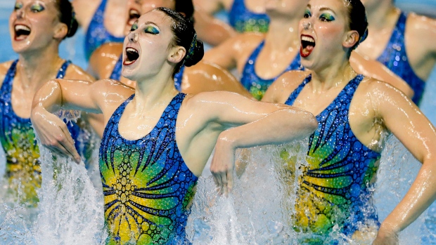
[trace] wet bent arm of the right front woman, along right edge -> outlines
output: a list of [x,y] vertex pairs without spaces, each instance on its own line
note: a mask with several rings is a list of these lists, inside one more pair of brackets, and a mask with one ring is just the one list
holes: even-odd
[[413,223],[436,199],[436,132],[430,121],[404,95],[387,84],[371,88],[378,117],[423,164],[404,199],[383,221],[373,244],[397,244],[397,233]]

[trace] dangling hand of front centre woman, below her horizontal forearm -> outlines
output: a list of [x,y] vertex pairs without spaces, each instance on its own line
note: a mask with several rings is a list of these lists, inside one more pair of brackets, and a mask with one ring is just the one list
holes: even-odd
[[[225,131],[224,131],[225,132]],[[210,172],[214,176],[220,194],[227,195],[233,188],[233,170],[235,168],[235,147],[222,132],[215,145],[215,153],[210,164]]]

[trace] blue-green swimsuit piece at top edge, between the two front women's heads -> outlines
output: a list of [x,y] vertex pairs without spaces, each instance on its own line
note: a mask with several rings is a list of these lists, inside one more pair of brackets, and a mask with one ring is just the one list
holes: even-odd
[[230,25],[237,32],[268,32],[269,17],[266,13],[253,13],[245,7],[245,0],[233,0],[229,12]]

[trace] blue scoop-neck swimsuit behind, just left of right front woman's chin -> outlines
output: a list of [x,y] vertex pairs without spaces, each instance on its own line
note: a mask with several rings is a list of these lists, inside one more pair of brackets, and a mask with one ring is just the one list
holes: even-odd
[[257,100],[261,100],[264,96],[265,92],[267,91],[268,87],[279,77],[281,74],[288,72],[290,70],[294,69],[303,69],[301,62],[300,62],[300,55],[295,56],[295,59],[293,62],[290,63],[288,67],[281,73],[278,74],[277,77],[274,77],[272,79],[262,79],[261,77],[257,76],[256,70],[255,70],[255,63],[257,60],[257,56],[259,56],[260,51],[262,51],[262,48],[264,47],[265,41],[262,41],[259,46],[253,51],[253,53],[250,55],[250,58],[248,58],[247,63],[244,66],[242,77],[241,77],[241,84],[248,90],[250,93],[255,97]]

